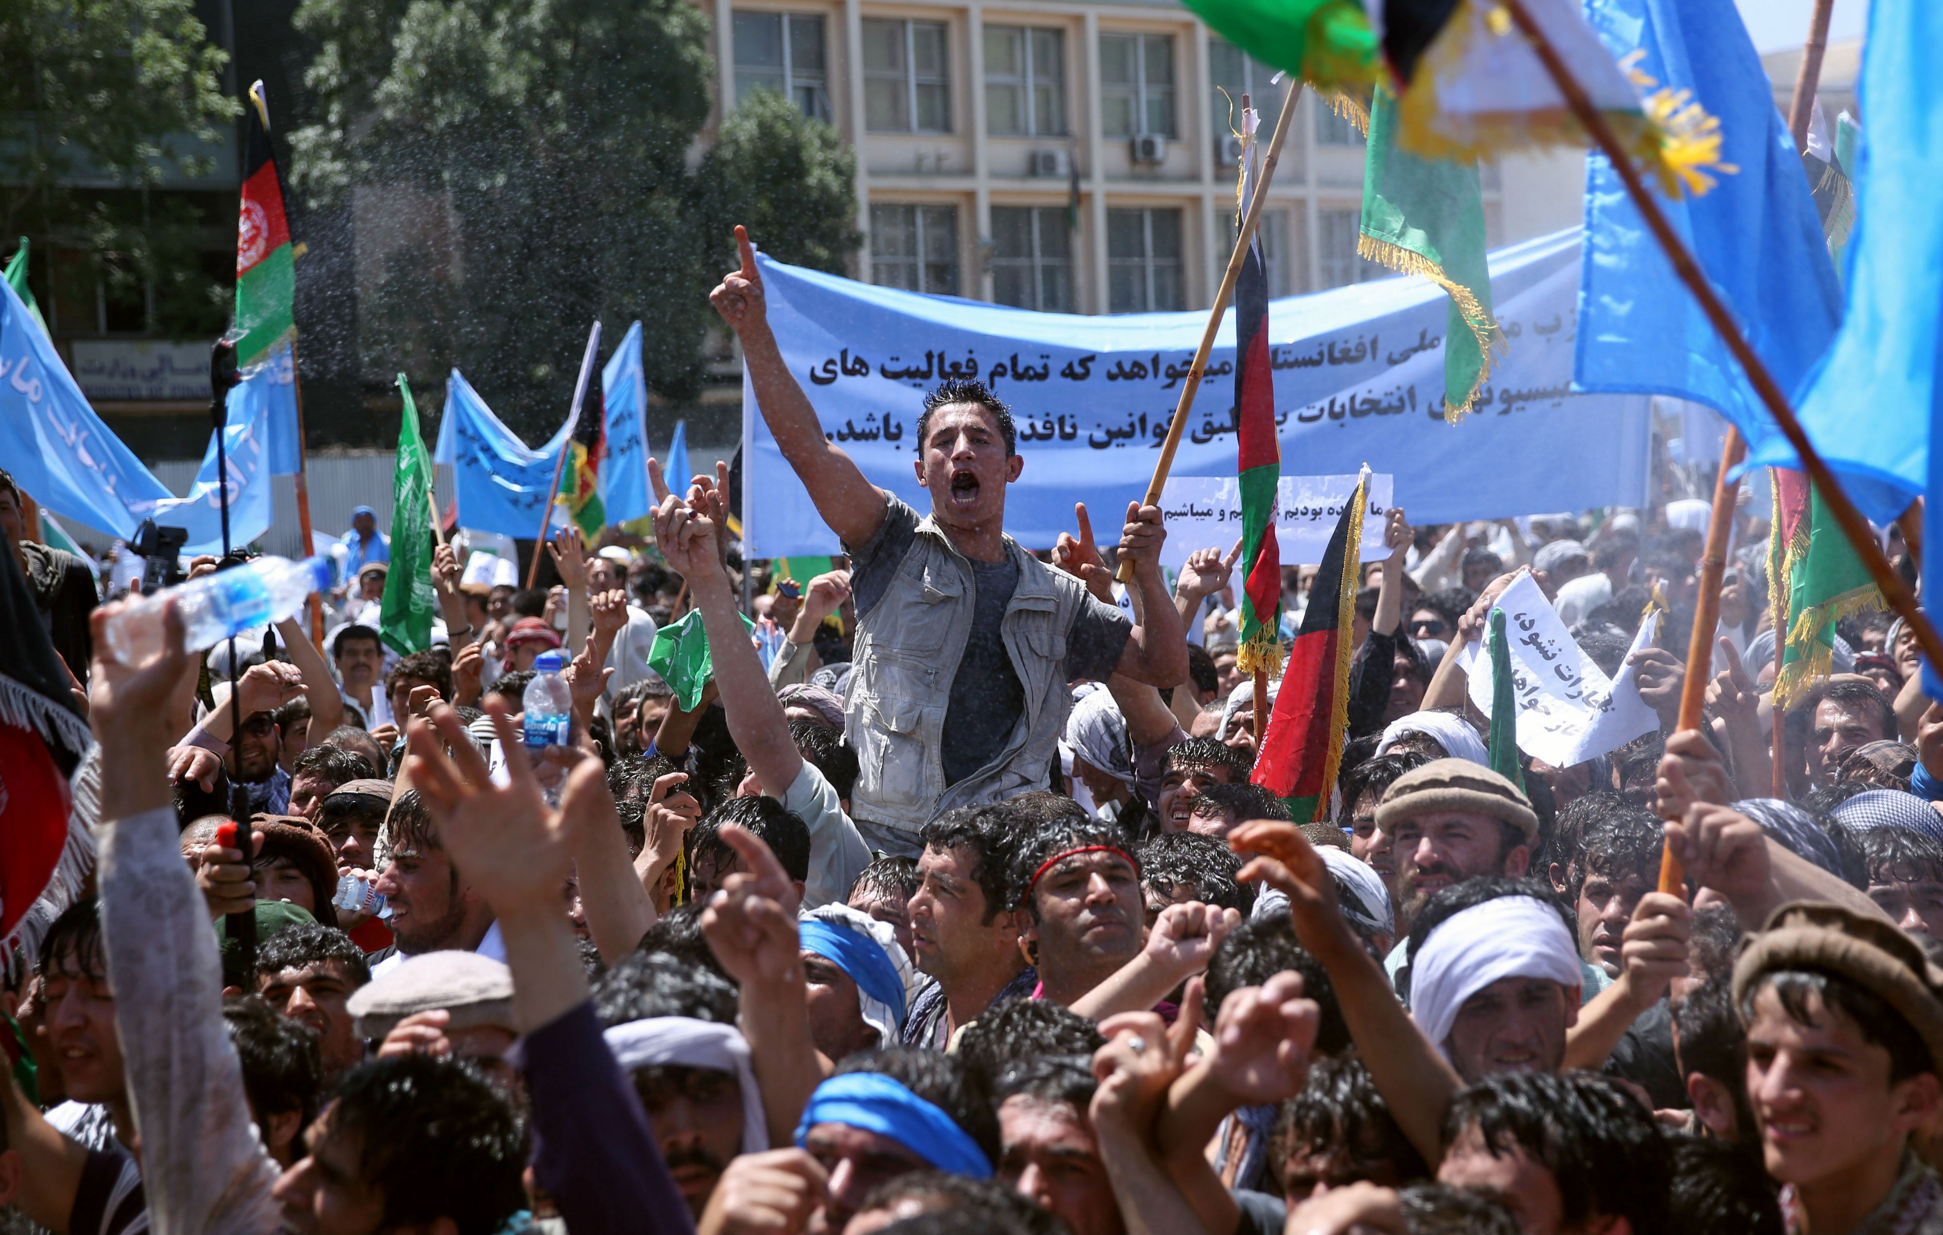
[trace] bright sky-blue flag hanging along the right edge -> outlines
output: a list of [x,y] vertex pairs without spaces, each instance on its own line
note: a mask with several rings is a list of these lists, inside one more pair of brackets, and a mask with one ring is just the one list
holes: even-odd
[[[1867,132],[1856,171],[1856,231],[1848,243],[1848,315],[1797,396],[1801,427],[1861,513],[1887,524],[1910,499],[1931,495],[1939,534],[1937,460],[1929,431],[1943,416],[1943,8],[1933,0],[1875,0],[1861,64]],[[1784,443],[1786,447],[1786,443]],[[1756,462],[1786,462],[1780,451]],[[1943,546],[1929,540],[1929,546]],[[1933,608],[1935,550],[1924,555]]]

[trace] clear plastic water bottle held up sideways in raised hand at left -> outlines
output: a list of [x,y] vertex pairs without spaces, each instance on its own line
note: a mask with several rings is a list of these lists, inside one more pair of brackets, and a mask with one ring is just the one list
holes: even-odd
[[142,664],[161,651],[161,606],[175,596],[183,618],[183,647],[190,652],[216,647],[229,635],[282,621],[330,586],[330,559],[256,557],[245,565],[144,596],[109,619],[109,654],[122,664]]

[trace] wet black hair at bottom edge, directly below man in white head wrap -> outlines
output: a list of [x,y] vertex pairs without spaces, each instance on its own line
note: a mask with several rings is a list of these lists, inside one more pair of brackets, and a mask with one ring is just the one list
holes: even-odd
[[1558,1185],[1558,1227],[1624,1218],[1640,1235],[1667,1231],[1673,1153],[1653,1117],[1589,1072],[1504,1072],[1459,1089],[1444,1111],[1444,1148],[1477,1128],[1492,1157],[1523,1152]]

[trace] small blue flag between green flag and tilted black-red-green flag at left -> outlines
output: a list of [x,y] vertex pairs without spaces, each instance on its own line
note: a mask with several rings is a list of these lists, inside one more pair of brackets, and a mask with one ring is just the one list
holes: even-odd
[[554,499],[554,464],[567,427],[534,451],[505,427],[459,369],[445,383],[445,417],[433,462],[453,468],[459,526],[530,538]]

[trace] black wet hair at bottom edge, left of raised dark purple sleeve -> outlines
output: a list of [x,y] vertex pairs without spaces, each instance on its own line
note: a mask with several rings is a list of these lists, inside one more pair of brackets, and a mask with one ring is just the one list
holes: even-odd
[[330,1136],[358,1146],[358,1177],[385,1198],[379,1229],[453,1219],[494,1235],[527,1204],[527,1130],[470,1066],[431,1054],[377,1058],[338,1082]]

